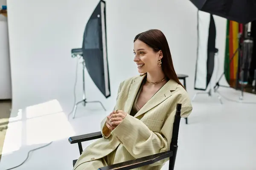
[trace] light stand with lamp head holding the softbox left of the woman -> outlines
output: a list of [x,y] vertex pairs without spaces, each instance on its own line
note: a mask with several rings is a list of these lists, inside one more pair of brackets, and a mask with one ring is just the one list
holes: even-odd
[[83,58],[83,52],[82,52],[82,49],[81,48],[77,48],[77,49],[72,49],[71,50],[71,54],[72,54],[72,58],[74,57],[80,57],[83,59],[82,61],[82,64],[83,64],[83,99],[79,102],[77,102],[73,108],[73,119],[75,118],[76,116],[76,108],[77,108],[77,105],[79,105],[80,103],[84,103],[84,106],[86,105],[86,103],[99,103],[102,105],[102,108],[107,111],[104,107],[104,105],[102,104],[102,102],[100,101],[87,101],[86,98],[85,98],[85,79],[84,79],[84,71],[85,71],[85,61],[84,61],[84,58]]

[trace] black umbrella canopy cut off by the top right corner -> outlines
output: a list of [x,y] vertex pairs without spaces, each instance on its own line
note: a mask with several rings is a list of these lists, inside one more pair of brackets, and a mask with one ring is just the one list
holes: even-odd
[[200,11],[249,23],[256,20],[256,0],[190,0]]

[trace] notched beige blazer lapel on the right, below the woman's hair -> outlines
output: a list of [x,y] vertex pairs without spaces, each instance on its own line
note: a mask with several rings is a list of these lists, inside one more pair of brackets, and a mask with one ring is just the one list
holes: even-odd
[[163,85],[163,87],[160,88],[159,91],[157,91],[157,93],[148,100],[148,102],[140,109],[140,111],[137,112],[134,117],[142,115],[143,113],[149,111],[150,109],[154,108],[155,106],[168,99],[170,96],[172,96],[171,91],[174,91],[176,87],[177,82],[174,82],[173,80],[169,80],[168,82],[166,82],[166,84]]

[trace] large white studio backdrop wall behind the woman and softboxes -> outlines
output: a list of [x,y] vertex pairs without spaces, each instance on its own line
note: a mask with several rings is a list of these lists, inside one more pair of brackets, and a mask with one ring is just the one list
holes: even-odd
[[[188,74],[187,88],[194,93],[197,9],[189,0],[106,0],[108,61],[112,96],[105,99],[86,73],[88,100],[100,100],[112,109],[123,79],[137,75],[133,39],[157,28],[166,35],[177,73]],[[50,99],[73,105],[76,59],[84,26],[98,0],[8,0],[13,109]],[[223,71],[226,22],[218,17],[217,47]],[[79,64],[77,100],[82,97]],[[99,106],[100,108],[100,106]],[[70,108],[71,109],[71,108]]]

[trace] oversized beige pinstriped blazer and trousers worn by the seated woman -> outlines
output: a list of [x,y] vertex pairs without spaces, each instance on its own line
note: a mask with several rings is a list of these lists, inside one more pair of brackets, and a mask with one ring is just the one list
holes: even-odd
[[[132,77],[120,83],[114,110],[123,110],[128,113],[127,116],[112,132],[105,125],[105,118],[101,123],[104,137],[83,151],[74,169],[84,162],[107,156],[117,147],[119,155],[115,156],[115,162],[170,149],[176,104],[182,103],[182,117],[189,116],[192,111],[189,96],[181,85],[169,80],[135,116],[131,116],[129,113],[144,77],[145,75]],[[169,159],[158,161],[143,170],[152,169],[152,166],[154,170],[160,169],[167,160]]]

